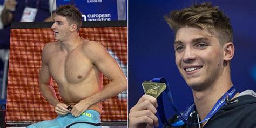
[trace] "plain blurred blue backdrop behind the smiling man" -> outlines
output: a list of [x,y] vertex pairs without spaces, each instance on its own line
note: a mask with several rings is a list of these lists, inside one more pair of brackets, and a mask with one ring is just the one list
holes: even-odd
[[[235,45],[231,64],[233,84],[239,92],[247,89],[255,91],[256,1],[211,2],[231,18]],[[155,77],[166,77],[169,80],[174,102],[180,111],[184,111],[193,100],[191,89],[175,64],[174,34],[163,18],[169,11],[188,7],[191,3],[189,0],[129,0],[129,110],[144,94],[141,83]],[[167,99],[164,100],[166,114],[170,118],[174,113]],[[160,124],[159,127],[162,126]]]

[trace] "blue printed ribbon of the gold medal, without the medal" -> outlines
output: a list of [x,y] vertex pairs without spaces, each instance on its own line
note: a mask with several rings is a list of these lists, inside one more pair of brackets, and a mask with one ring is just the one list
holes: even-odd
[[200,123],[203,123],[207,120],[209,120],[216,112],[218,112],[218,110],[224,106],[227,103],[227,99],[232,99],[235,94],[238,92],[234,86],[232,86],[218,101],[217,103],[215,103],[215,105],[213,106],[212,110],[207,114],[207,116],[205,117],[205,119],[203,119],[201,122],[199,123],[194,123],[194,122],[190,122],[188,121],[188,117],[190,116],[190,113],[194,111],[194,109],[196,108],[196,105],[194,104],[194,102],[191,102],[190,105],[186,108],[186,110],[184,111],[183,114],[180,113],[180,111],[178,110],[178,108],[176,107],[176,105],[173,102],[173,98],[172,98],[172,93],[170,90],[170,86],[169,83],[167,81],[166,78],[153,78],[152,82],[158,82],[158,83],[165,83],[166,84],[166,89],[164,91],[164,93],[166,94],[167,98],[169,99],[169,102],[171,104],[172,109],[176,112],[176,114],[179,116],[179,120],[177,122],[174,122],[172,124],[168,123],[166,116],[165,116],[165,111],[164,111],[164,104],[163,104],[163,93],[157,98],[157,103],[158,103],[158,114],[160,117],[161,122],[164,125],[170,125],[170,126],[182,126],[185,123],[189,124],[189,125],[198,125]]

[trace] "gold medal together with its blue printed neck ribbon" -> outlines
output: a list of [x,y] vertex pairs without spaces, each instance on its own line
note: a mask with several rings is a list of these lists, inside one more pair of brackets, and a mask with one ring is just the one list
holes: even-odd
[[[143,90],[146,95],[153,96],[157,98],[157,103],[158,103],[158,114],[160,117],[161,122],[164,125],[169,125],[169,126],[182,126],[185,123],[189,125],[198,125],[200,123],[206,122],[208,119],[210,119],[219,109],[221,106],[225,105],[227,103],[226,99],[232,99],[234,95],[237,93],[237,90],[235,89],[234,86],[230,88],[218,101],[215,103],[213,106],[212,110],[208,115],[205,117],[205,119],[201,120],[201,122],[194,123],[194,122],[189,122],[188,117],[191,112],[196,109],[196,106],[194,102],[191,102],[190,105],[186,108],[184,113],[188,114],[181,114],[176,105],[173,102],[172,95],[171,95],[171,90],[169,83],[166,78],[154,78],[152,81],[145,81],[142,83]],[[163,95],[161,95],[162,92],[165,91],[165,94],[167,98],[169,99],[170,106],[172,109],[176,112],[176,114],[179,116],[179,120],[177,122],[174,122],[170,124],[165,116],[165,111],[164,111],[164,103],[163,103]],[[160,96],[160,97],[158,97]]]

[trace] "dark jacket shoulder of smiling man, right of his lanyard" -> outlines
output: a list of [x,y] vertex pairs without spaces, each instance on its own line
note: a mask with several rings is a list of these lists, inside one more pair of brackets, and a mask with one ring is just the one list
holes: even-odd
[[256,97],[241,95],[221,107],[206,127],[256,127]]

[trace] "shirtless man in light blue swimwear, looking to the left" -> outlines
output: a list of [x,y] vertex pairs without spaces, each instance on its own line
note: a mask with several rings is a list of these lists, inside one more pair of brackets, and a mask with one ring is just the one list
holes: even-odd
[[[42,95],[55,106],[59,116],[31,127],[66,127],[75,122],[100,123],[100,102],[127,89],[124,73],[102,45],[79,37],[82,16],[75,6],[60,6],[54,21],[51,28],[57,42],[44,46],[39,86]],[[111,82],[101,91],[103,75]],[[63,103],[59,102],[51,86],[52,78],[58,83]],[[82,116],[92,119],[82,119]],[[92,127],[86,123],[75,125]]]

